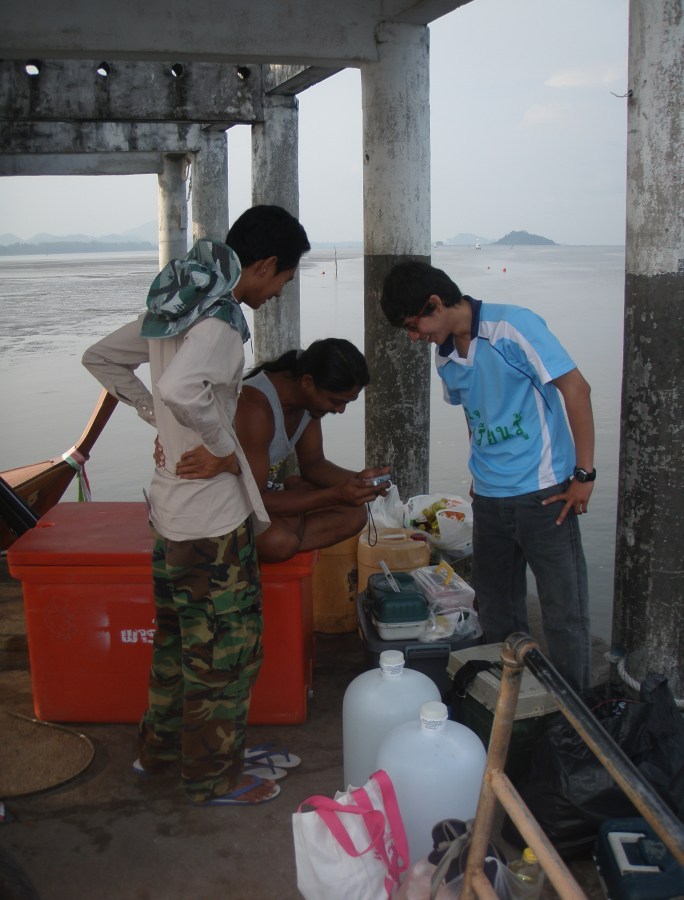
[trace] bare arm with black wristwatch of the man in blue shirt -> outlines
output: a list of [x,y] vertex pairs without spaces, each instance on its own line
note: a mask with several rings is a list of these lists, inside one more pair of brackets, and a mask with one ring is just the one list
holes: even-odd
[[[561,392],[568,414],[570,431],[575,442],[575,465],[591,472],[594,468],[594,414],[591,408],[591,388],[579,369],[572,369],[565,375],[554,378],[553,384]],[[578,515],[587,512],[593,489],[593,481],[580,482],[573,478],[565,493],[549,497],[544,501],[544,506],[559,499],[565,500],[565,505],[556,520],[556,524],[560,525],[570,509],[574,509]]]

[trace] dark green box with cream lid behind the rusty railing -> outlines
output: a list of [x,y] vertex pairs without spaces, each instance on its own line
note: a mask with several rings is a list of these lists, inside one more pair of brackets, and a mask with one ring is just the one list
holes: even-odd
[[[483,644],[480,647],[455,650],[450,654],[447,666],[448,677],[453,682],[454,679],[459,680],[457,678],[459,673],[461,678],[466,674],[463,669],[472,661],[492,664],[490,668],[478,672],[468,681],[464,697],[456,696],[453,690],[451,692],[452,719],[472,729],[482,739],[485,747],[489,746],[494,713],[501,690],[502,646],[500,643]],[[524,669],[506,762],[506,774],[511,780],[515,781],[524,773],[532,748],[560,715],[552,695],[528,669]]]

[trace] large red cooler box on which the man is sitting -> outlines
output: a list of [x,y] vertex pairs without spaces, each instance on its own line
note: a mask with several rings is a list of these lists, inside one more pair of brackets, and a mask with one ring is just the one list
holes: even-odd
[[[22,582],[33,702],[54,722],[137,722],[152,659],[152,532],[144,503],[59,503],[7,551]],[[315,554],[262,566],[264,664],[249,721],[306,720]]]

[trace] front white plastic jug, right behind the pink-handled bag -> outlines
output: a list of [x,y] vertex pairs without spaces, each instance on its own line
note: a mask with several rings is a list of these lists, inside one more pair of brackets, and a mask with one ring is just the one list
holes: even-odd
[[392,779],[411,863],[432,850],[437,822],[472,819],[477,811],[487,754],[474,731],[447,716],[443,703],[425,703],[378,750],[376,769]]

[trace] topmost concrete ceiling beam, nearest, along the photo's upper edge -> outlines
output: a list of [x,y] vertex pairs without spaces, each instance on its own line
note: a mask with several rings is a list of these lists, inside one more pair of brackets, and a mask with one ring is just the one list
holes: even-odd
[[427,25],[467,0],[30,0],[9,4],[0,59],[283,63],[346,68],[378,58],[382,22]]

